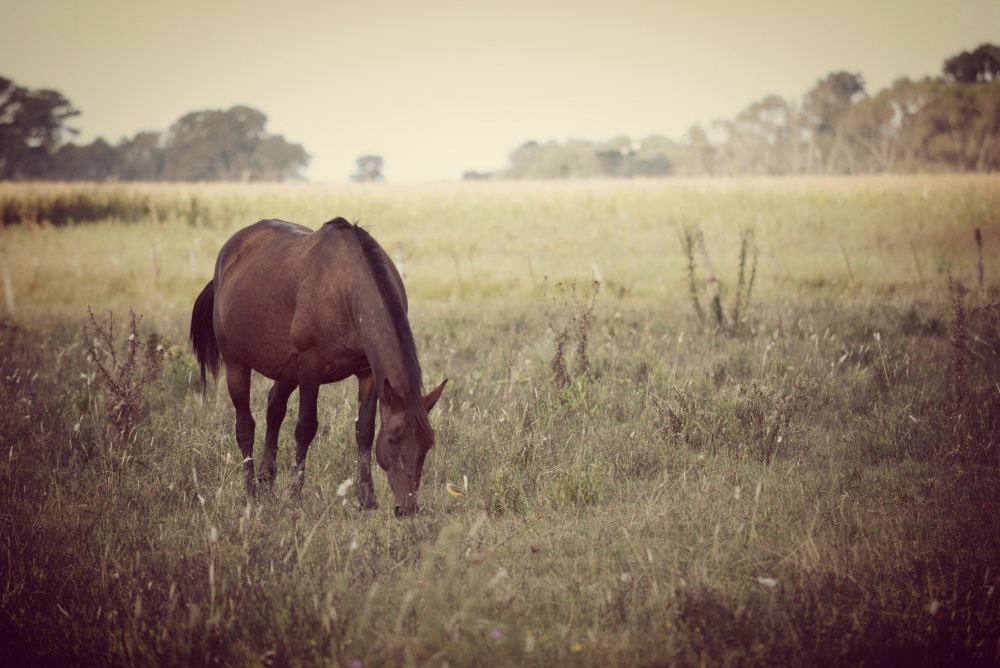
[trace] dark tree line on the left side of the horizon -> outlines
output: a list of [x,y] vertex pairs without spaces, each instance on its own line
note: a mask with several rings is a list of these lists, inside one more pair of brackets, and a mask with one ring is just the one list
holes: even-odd
[[67,141],[80,112],[61,93],[0,77],[0,180],[289,181],[310,155],[265,130],[246,106],[194,111],[165,133],[140,132],[111,144]]

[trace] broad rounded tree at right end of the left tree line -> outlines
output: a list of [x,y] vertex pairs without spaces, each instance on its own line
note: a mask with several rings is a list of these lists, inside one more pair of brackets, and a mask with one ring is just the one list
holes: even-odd
[[267,116],[245,106],[181,117],[164,141],[163,177],[170,181],[261,181],[300,178],[309,155],[264,130]]

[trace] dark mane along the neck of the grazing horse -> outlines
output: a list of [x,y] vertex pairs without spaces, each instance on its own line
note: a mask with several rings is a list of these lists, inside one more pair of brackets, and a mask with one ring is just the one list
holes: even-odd
[[[386,252],[379,246],[375,238],[368,233],[368,230],[360,225],[351,224],[343,218],[334,218],[327,225],[333,225],[340,229],[348,229],[354,232],[355,237],[361,244],[368,266],[375,277],[375,285],[386,309],[392,320],[393,328],[396,330],[396,338],[399,341],[399,348],[403,354],[403,363],[406,365],[406,396],[408,402],[407,412],[410,422],[417,430],[420,439],[430,447],[434,443],[434,430],[431,428],[430,418],[424,408],[424,384],[423,373],[420,370],[420,360],[417,359],[417,344],[413,340],[413,332],[410,329],[410,320],[406,315],[406,305],[403,303],[402,295],[396,287],[395,272],[392,268],[392,261]],[[381,387],[378,390],[381,392]],[[395,388],[399,392],[399,388]]]

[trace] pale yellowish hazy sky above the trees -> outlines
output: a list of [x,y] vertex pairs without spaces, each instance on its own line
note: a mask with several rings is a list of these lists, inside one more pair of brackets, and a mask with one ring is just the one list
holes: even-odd
[[506,166],[528,140],[679,139],[828,73],[870,93],[1000,42],[1000,0],[0,0],[0,76],[79,140],[246,104],[341,182]]

